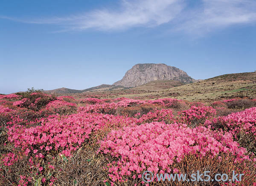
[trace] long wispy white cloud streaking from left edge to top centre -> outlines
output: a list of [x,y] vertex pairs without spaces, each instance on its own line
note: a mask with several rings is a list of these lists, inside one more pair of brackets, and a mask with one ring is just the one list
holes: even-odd
[[58,24],[70,30],[119,30],[134,26],[158,26],[169,23],[184,8],[183,0],[121,0],[118,10],[96,9],[84,14],[44,19],[16,19],[23,23]]

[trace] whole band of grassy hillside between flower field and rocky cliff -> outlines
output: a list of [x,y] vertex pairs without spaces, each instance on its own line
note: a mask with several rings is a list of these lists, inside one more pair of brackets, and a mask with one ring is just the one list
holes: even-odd
[[82,91],[61,88],[51,92],[71,94],[77,98],[156,99],[172,97],[189,101],[221,100],[234,97],[255,99],[256,73],[225,74],[186,85],[175,80],[157,80],[131,89],[123,86],[101,85]]

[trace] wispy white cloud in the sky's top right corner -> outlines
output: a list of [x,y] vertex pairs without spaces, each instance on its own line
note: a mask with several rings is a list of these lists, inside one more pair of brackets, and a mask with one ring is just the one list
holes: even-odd
[[235,24],[256,22],[255,0],[202,0],[202,6],[189,13],[177,28],[190,32],[207,32]]

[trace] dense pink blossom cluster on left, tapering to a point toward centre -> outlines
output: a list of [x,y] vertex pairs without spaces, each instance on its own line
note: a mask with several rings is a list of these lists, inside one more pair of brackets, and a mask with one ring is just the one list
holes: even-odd
[[62,117],[54,115],[41,119],[40,126],[9,126],[8,140],[14,143],[15,147],[20,147],[25,155],[34,153],[36,157],[44,157],[45,153],[55,149],[69,157],[92,132],[106,125],[122,126],[135,124],[136,121],[136,118],[86,112]]

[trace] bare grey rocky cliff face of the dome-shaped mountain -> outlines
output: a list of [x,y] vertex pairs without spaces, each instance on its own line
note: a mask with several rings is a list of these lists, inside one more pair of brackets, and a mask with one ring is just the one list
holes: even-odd
[[166,64],[144,63],[134,65],[125,73],[122,80],[113,85],[136,87],[154,80],[178,80],[183,83],[192,83],[195,80],[188,74],[174,66]]

